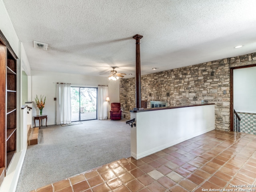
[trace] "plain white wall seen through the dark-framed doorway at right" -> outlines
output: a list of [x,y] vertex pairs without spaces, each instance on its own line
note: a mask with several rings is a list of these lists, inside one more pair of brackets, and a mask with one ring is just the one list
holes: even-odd
[[236,112],[256,113],[256,67],[234,72],[234,109]]

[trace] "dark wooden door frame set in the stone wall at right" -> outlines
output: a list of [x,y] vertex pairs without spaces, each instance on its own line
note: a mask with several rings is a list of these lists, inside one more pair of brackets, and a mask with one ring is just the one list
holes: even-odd
[[246,65],[246,66],[238,66],[230,68],[230,131],[234,131],[234,70],[256,67],[256,64]]

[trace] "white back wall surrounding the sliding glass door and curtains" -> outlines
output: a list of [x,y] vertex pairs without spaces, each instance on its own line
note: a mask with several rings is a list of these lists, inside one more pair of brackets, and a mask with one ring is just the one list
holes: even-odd
[[[119,102],[119,81],[112,82],[106,77],[84,76],[78,74],[66,74],[46,71],[31,71],[32,101],[40,95],[46,96],[43,114],[47,115],[47,125],[56,124],[56,82],[71,83],[71,86],[98,87],[98,85],[109,85],[109,97]],[[39,109],[33,104],[33,116],[39,115]],[[33,122],[34,123],[34,122]],[[36,122],[38,125],[38,121]],[[43,122],[45,125],[45,122]]]

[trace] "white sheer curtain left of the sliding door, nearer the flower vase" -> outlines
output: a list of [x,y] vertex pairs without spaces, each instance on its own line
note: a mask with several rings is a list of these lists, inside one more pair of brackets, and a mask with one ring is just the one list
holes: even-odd
[[70,84],[57,83],[56,124],[71,123]]

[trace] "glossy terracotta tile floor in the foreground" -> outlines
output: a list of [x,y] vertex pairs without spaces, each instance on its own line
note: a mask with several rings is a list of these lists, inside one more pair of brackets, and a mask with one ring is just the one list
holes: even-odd
[[255,191],[250,185],[256,185],[256,136],[213,130],[140,160],[121,159],[33,192]]

